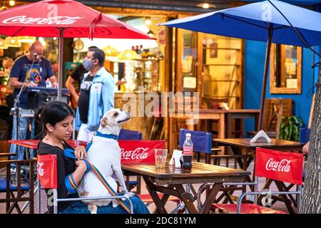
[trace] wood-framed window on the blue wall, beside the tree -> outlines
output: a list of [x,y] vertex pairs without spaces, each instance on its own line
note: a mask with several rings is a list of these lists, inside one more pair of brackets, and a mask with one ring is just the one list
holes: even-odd
[[301,93],[302,48],[273,44],[270,93]]

